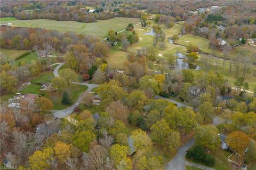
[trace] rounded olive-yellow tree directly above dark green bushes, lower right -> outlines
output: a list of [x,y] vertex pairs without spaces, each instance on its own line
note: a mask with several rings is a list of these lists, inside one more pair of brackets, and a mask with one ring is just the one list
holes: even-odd
[[199,145],[214,150],[220,143],[218,129],[213,125],[203,125],[196,128],[195,141]]

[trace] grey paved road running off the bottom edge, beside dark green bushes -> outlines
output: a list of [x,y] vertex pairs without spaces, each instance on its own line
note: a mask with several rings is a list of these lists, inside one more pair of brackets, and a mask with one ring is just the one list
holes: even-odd
[[179,149],[177,155],[167,164],[166,170],[185,170],[186,162],[185,156],[186,151],[191,148],[194,144],[194,139],[190,139],[183,147]]

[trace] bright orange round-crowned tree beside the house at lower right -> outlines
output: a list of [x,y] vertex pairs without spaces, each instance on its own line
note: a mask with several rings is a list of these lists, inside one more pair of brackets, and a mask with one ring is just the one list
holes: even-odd
[[[226,142],[231,149],[242,154],[249,146],[250,137],[242,132],[234,131],[228,135]],[[236,160],[238,161],[238,154],[236,156]]]

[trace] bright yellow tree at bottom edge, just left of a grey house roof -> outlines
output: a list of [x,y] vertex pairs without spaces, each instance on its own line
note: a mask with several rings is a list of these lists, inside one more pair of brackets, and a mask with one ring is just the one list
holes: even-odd
[[125,164],[125,167],[123,169],[132,169],[131,159],[129,157],[126,157],[127,152],[128,148],[119,144],[114,144],[110,148],[109,155],[111,160],[113,161],[115,168],[117,168],[118,165],[121,164],[123,161]]

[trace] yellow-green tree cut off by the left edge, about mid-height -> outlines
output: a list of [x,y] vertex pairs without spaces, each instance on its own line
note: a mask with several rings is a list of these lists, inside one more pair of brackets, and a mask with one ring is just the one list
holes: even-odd
[[7,74],[5,71],[2,71],[0,74],[1,78],[1,90],[5,90],[6,92],[14,92],[15,91],[15,86],[18,83],[18,80]]

